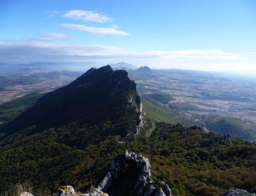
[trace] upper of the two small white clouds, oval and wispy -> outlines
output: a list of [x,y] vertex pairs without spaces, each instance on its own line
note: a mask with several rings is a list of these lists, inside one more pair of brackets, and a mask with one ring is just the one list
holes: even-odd
[[70,10],[63,16],[70,19],[91,21],[96,23],[105,23],[106,21],[113,20],[112,18],[109,18],[101,13],[84,10]]

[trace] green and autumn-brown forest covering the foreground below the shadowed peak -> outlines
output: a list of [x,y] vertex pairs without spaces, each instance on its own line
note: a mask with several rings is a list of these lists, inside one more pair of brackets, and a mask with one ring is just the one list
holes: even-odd
[[108,126],[72,123],[10,138],[1,149],[1,190],[9,182],[28,182],[49,192],[65,184],[84,191],[96,186],[113,157],[128,149],[149,158],[153,179],[168,183],[174,195],[220,195],[229,188],[256,191],[255,144],[217,142],[215,134],[200,129],[182,134],[184,127],[164,122],[156,122],[150,137],[123,143],[118,135],[104,136]]

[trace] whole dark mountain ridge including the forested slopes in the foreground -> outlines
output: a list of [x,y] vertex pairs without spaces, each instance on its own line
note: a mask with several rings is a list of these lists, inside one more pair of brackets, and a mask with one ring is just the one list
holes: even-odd
[[[60,185],[86,191],[126,149],[150,159],[152,179],[169,184],[175,196],[256,191],[255,144],[217,141],[217,135],[196,126],[154,122],[153,129],[147,114],[143,118],[149,123],[136,136],[143,111],[125,71],[91,69],[26,104],[28,109],[0,130],[0,193],[18,182],[48,193]],[[144,137],[147,129],[152,133]]]

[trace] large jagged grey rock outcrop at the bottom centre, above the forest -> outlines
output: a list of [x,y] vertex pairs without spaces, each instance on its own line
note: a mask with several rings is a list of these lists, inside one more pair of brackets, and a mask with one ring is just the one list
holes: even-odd
[[151,179],[150,161],[140,154],[128,153],[116,156],[110,166],[110,171],[99,183],[98,189],[110,196],[138,195],[156,196],[171,195],[172,191],[164,182],[156,189]]

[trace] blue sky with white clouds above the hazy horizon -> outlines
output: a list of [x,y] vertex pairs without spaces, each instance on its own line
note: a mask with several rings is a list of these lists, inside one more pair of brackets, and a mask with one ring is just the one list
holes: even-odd
[[254,0],[0,0],[0,63],[256,74],[255,35]]

